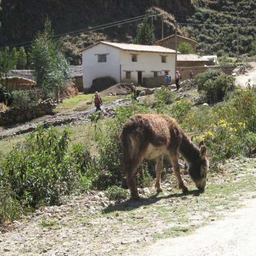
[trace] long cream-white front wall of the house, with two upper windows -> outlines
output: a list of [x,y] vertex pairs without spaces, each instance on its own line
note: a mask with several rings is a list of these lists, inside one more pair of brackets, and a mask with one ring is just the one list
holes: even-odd
[[[131,62],[131,54],[137,54],[137,62]],[[166,56],[166,63],[161,62],[161,55]],[[121,63],[121,81],[125,82],[125,71],[131,71],[131,80],[135,83],[138,81],[138,71],[142,71],[143,77],[153,77],[152,71],[161,71],[164,75],[165,70],[169,70],[172,79],[175,75],[175,54],[174,53],[139,53],[130,51],[120,52]]]

